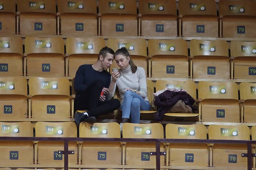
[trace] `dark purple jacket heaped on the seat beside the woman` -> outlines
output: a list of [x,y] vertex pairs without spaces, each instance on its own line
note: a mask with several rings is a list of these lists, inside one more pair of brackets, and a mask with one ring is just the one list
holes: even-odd
[[193,99],[187,92],[166,90],[164,93],[157,96],[154,102],[157,106],[155,120],[162,121],[164,113],[167,113],[179,100],[191,107],[193,111],[197,110],[197,108],[193,106],[195,99]]

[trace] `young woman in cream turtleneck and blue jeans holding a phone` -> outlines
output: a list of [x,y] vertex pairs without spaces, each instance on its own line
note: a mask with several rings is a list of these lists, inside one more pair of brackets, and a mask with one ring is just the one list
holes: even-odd
[[135,66],[125,47],[116,51],[114,59],[121,69],[116,73],[112,72],[108,99],[114,96],[117,87],[121,98],[120,110],[123,110],[120,124],[122,129],[123,124],[129,119],[131,123],[140,123],[140,110],[150,110],[150,104],[145,70]]

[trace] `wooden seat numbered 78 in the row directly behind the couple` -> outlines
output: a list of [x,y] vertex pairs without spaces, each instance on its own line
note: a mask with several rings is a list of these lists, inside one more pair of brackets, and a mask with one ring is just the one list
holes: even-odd
[[228,43],[225,40],[190,41],[190,75],[195,79],[230,79]]

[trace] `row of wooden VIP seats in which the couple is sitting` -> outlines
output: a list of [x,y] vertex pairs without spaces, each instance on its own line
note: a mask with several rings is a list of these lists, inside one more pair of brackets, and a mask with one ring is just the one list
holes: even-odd
[[[73,121],[70,118],[74,118],[75,92],[72,89],[72,95],[69,96],[67,78],[33,77],[29,79],[28,85],[29,88],[27,88],[27,80],[23,77],[0,78],[2,121]],[[186,90],[196,100],[199,111],[194,114],[166,113],[166,116],[179,117],[181,121],[193,119],[203,122],[256,123],[254,116],[256,83],[240,84],[240,100],[238,100],[238,85],[235,82],[200,81],[198,97],[194,81],[156,81],[156,91],[163,90],[167,86]],[[147,80],[147,87],[148,99],[151,103],[154,83]],[[152,111],[142,111],[141,116],[156,112]]]

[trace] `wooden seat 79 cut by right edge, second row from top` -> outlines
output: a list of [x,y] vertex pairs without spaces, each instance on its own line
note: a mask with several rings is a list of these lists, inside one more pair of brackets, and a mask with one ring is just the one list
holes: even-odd
[[251,82],[256,75],[256,41],[231,41],[231,78]]

